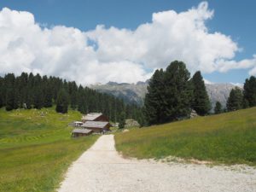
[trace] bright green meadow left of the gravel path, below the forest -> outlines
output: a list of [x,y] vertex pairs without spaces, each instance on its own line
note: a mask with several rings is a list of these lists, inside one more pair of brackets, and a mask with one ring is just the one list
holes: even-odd
[[54,191],[67,167],[96,136],[74,139],[67,124],[81,114],[0,109],[0,191]]

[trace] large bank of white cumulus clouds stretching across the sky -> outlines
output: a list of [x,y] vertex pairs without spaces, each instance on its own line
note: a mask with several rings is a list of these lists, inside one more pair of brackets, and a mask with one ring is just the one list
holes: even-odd
[[28,12],[0,11],[0,73],[32,72],[76,80],[133,83],[148,79],[155,68],[180,60],[193,73],[248,68],[256,74],[256,56],[234,60],[240,48],[229,36],[208,32],[213,11],[203,2],[177,13],[154,13],[135,30],[96,26],[77,28],[39,25]]

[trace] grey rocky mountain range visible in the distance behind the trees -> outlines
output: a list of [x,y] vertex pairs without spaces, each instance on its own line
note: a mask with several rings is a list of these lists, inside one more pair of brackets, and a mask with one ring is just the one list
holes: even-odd
[[[122,98],[125,102],[143,105],[143,99],[147,93],[148,81],[137,82],[137,84],[119,84],[108,82],[108,84],[92,84],[90,88],[103,93]],[[230,90],[236,87],[235,84],[206,84],[208,96],[214,108],[215,102],[220,102],[225,107]]]

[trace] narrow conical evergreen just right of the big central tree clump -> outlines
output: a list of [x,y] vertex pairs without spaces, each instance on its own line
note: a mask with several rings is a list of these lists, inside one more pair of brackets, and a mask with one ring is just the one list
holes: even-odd
[[206,115],[211,109],[211,103],[207,95],[206,85],[201,76],[201,72],[198,71],[192,78],[193,85],[193,101],[192,108],[196,113],[200,115]]

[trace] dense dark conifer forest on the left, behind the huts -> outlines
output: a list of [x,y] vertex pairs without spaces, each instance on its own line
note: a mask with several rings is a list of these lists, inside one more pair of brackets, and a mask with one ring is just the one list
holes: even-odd
[[58,113],[67,113],[68,108],[72,108],[81,113],[104,113],[113,122],[118,122],[124,115],[126,119],[137,119],[141,123],[143,120],[142,108],[137,105],[126,104],[119,98],[81,84],[78,86],[74,81],[33,73],[21,73],[17,77],[8,73],[0,77],[0,108],[10,111],[53,105]]

